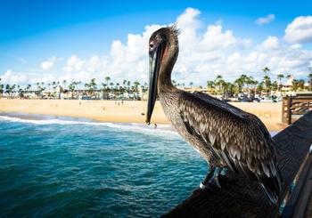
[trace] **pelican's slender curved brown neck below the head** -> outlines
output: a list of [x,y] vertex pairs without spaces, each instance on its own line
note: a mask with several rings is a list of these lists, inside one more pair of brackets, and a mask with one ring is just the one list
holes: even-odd
[[177,61],[177,54],[177,42],[170,42],[164,51],[163,58],[160,64],[160,75],[158,82],[159,92],[168,92],[176,89],[176,87],[171,83],[171,72]]

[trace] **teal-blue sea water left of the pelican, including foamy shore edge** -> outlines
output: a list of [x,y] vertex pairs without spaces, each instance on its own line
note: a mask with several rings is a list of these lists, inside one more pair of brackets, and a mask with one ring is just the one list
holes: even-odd
[[0,115],[1,217],[157,217],[206,174],[166,126],[28,118]]

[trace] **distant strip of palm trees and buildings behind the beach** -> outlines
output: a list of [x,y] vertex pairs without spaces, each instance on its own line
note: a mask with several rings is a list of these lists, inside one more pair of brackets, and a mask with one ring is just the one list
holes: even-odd
[[[225,99],[235,98],[239,94],[253,97],[259,96],[284,95],[288,92],[312,91],[312,73],[308,74],[308,83],[305,84],[303,79],[295,79],[290,74],[283,73],[275,77],[269,77],[270,69],[265,67],[262,69],[263,78],[260,81],[253,77],[242,74],[233,82],[226,81],[224,77],[218,75],[214,80],[208,80],[206,86],[193,87],[193,82],[189,83],[189,87],[185,87],[184,83],[177,83],[173,80],[173,85],[184,88],[186,91],[201,91],[213,95],[221,96]],[[287,83],[286,79],[288,80]],[[88,97],[91,99],[133,99],[140,100],[147,95],[147,83],[141,85],[139,82],[131,82],[127,79],[120,83],[111,81],[111,77],[104,77],[103,82],[96,81],[92,78],[90,82],[82,85],[81,81],[67,80],[62,83],[53,81],[45,84],[37,82],[35,85],[3,84],[0,78],[0,97],[24,97],[24,98],[69,98],[77,99],[78,97]],[[277,94],[276,94],[277,93]]]

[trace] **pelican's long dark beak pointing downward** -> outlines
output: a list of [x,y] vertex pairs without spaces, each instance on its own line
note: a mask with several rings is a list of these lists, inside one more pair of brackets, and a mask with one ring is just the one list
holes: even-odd
[[160,72],[160,61],[162,55],[162,45],[159,44],[153,52],[150,52],[150,84],[149,93],[147,101],[147,114],[146,114],[146,124],[150,125],[152,110],[155,106],[155,101],[157,97],[157,82],[158,75]]

